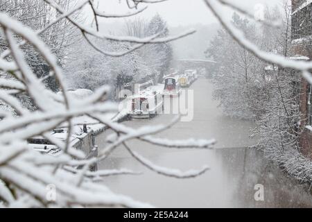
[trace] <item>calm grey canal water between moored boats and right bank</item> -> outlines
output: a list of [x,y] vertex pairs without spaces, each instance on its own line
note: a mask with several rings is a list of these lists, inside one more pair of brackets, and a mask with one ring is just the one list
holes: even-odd
[[[161,176],[141,166],[120,146],[98,169],[132,169],[139,176],[111,176],[104,179],[112,191],[125,194],[156,207],[312,207],[309,187],[301,185],[263,157],[261,151],[247,148],[257,143],[249,137],[254,123],[226,117],[211,98],[213,86],[198,79],[193,89],[193,120],[178,122],[157,137],[171,139],[217,140],[214,150],[173,149],[137,140],[128,145],[162,167],[188,170],[208,164],[207,173],[192,179]],[[125,121],[132,128],[168,123],[171,114],[153,119]],[[96,137],[99,148],[105,147],[110,130]]]

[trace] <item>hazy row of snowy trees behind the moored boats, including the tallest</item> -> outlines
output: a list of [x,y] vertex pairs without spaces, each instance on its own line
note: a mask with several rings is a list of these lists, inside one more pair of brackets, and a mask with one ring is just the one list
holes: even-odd
[[[168,36],[168,27],[164,19],[155,15],[150,21],[144,19],[131,19],[125,22],[121,31],[123,35],[135,37]],[[131,43],[118,43],[90,40],[103,51],[125,51],[130,49]],[[67,61],[67,83],[73,88],[96,89],[102,85],[110,85],[114,89],[125,83],[139,83],[153,80],[155,83],[162,80],[168,69],[172,49],[169,43],[146,44],[140,49],[132,51],[125,56],[111,57],[96,51],[86,40],[72,47],[73,55]],[[112,90],[112,97],[116,90]]]

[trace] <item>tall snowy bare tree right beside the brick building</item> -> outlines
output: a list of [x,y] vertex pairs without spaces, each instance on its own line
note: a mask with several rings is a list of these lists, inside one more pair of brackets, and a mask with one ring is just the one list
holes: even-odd
[[[263,47],[282,56],[290,54],[291,46],[291,7],[286,1],[282,12],[267,10],[268,19],[279,19],[282,25],[278,28],[263,27]],[[293,58],[298,59],[298,58]],[[305,167],[300,157],[300,135],[302,133],[302,113],[300,99],[302,97],[301,78],[295,69],[284,69],[270,64],[266,67],[266,85],[263,94],[266,95],[263,104],[263,114],[257,121],[254,130],[260,140],[258,148],[263,149],[271,160],[275,160],[286,171],[300,180],[306,180]],[[304,161],[303,161],[304,162]],[[297,165],[298,164],[298,165]],[[300,167],[299,167],[300,166]],[[301,174],[301,176],[300,176]]]

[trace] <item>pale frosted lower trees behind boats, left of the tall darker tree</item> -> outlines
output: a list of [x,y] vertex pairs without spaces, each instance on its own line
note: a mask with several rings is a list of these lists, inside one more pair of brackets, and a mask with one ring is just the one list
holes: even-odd
[[[91,37],[89,40],[108,51],[126,51],[131,46],[129,43],[96,40]],[[73,52],[67,60],[65,69],[67,83],[74,89],[85,88],[94,91],[103,85],[110,85],[111,97],[116,98],[114,87],[118,88],[130,82],[137,83],[150,74],[150,69],[139,56],[138,51],[112,58],[96,51],[85,40],[75,44],[71,51]]]

